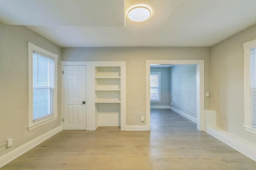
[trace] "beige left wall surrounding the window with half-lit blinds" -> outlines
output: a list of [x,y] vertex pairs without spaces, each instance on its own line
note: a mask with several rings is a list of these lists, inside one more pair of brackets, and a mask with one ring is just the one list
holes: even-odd
[[[28,131],[28,42],[58,54],[58,119]],[[17,25],[0,22],[0,145],[13,138],[13,146],[0,148],[0,156],[60,126],[61,48]]]

